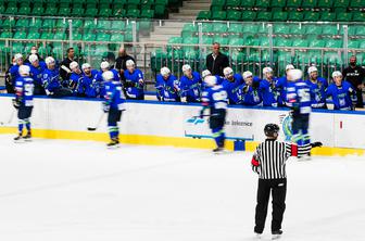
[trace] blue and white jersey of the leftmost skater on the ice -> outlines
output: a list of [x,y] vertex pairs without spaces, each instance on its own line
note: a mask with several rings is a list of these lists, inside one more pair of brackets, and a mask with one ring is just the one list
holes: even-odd
[[15,96],[23,106],[33,106],[34,80],[32,77],[17,77]]

